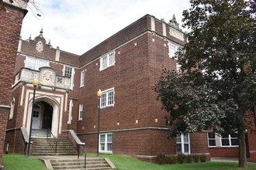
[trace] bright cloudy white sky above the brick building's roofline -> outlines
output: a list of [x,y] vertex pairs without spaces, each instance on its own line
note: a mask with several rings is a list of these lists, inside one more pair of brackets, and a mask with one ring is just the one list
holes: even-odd
[[[180,27],[189,0],[34,0],[22,23],[22,39],[40,34],[56,48],[81,55],[144,15],[169,22],[173,14]],[[41,16],[38,16],[37,14]],[[182,29],[185,31],[185,29]]]

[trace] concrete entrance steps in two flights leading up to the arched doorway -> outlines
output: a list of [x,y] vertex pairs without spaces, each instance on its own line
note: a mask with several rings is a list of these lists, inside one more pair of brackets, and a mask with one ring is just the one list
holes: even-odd
[[115,167],[107,158],[86,158],[85,166],[85,157],[77,158],[78,151],[67,138],[57,138],[57,150],[54,138],[38,138],[36,135],[31,141],[33,141],[31,155],[43,159],[50,169],[112,170]]

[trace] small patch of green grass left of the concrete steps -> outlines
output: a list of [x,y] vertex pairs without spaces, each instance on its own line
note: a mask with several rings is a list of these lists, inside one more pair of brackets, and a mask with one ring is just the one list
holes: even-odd
[[49,170],[42,161],[25,155],[3,155],[5,170]]

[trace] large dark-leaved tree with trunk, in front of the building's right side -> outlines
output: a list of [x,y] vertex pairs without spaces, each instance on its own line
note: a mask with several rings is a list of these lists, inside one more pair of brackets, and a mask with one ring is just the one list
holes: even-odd
[[164,69],[154,90],[178,133],[237,133],[239,167],[246,168],[246,129],[253,121],[256,57],[253,0],[191,0],[183,12],[189,42],[178,49],[181,73]]

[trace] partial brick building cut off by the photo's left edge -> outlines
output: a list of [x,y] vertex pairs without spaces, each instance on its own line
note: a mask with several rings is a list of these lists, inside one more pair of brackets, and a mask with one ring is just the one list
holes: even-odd
[[12,77],[16,63],[22,19],[26,15],[27,1],[17,0],[10,4],[2,2],[5,10],[0,9],[0,166],[5,144],[7,117],[10,112]]

